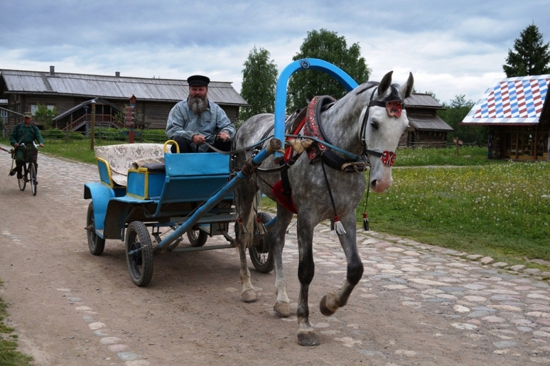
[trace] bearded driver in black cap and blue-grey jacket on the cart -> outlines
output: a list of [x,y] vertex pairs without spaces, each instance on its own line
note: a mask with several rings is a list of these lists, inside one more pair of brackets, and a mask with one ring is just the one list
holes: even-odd
[[[179,152],[212,152],[205,142],[218,150],[231,150],[235,127],[223,109],[208,100],[210,79],[194,75],[187,82],[189,96],[170,111],[166,136],[177,142]],[[175,146],[172,152],[176,152]]]

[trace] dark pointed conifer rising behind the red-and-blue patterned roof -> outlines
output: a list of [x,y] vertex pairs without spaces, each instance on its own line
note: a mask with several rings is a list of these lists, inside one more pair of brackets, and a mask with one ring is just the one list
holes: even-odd
[[549,45],[544,44],[542,34],[534,23],[522,30],[520,38],[514,41],[516,52],[509,49],[507,65],[503,65],[507,78],[550,73]]

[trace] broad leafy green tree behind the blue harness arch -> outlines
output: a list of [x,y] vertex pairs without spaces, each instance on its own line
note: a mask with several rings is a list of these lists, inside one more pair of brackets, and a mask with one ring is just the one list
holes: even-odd
[[[307,32],[300,52],[292,59],[320,58],[340,67],[358,83],[366,82],[371,75],[369,65],[361,57],[361,47],[353,43],[347,47],[346,38],[338,36],[336,32],[325,29]],[[287,98],[287,112],[307,105],[306,99],[311,100],[316,95],[331,95],[336,99],[342,98],[347,90],[327,73],[322,71],[300,71],[294,73],[289,80],[289,96]]]

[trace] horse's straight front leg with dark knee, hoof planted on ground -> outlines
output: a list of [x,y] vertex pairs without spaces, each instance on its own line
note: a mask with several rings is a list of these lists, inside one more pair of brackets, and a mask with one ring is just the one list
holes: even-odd
[[[305,216],[304,214],[302,216]],[[309,323],[308,294],[309,284],[314,278],[315,264],[313,254],[314,223],[303,218],[298,223],[298,251],[300,260],[298,262],[298,280],[300,281],[300,295],[298,297],[298,308],[296,316],[298,317],[298,344],[299,345],[318,345],[319,339],[314,332],[314,328]]]

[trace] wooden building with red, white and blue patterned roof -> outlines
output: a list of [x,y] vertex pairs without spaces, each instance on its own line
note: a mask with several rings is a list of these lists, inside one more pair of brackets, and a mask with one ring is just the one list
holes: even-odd
[[550,160],[550,75],[494,80],[463,119],[489,126],[489,159]]

